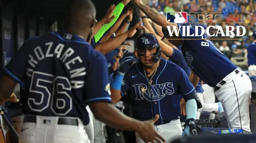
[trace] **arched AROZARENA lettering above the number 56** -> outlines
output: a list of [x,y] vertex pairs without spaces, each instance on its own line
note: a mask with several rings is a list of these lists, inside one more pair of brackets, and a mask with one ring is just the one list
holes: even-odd
[[[83,60],[79,56],[76,56],[75,58],[72,58],[72,59],[69,58],[75,53],[72,47],[69,47],[63,53],[62,50],[64,49],[64,46],[65,46],[64,44],[58,44],[54,49],[52,49],[53,42],[45,43],[45,46],[48,46],[45,53],[43,53],[43,50],[40,46],[37,46],[36,48],[34,48],[34,55],[36,55],[36,57],[33,57],[30,54],[28,55],[28,63],[30,64],[30,66],[32,68],[35,68],[36,65],[38,64],[38,61],[41,61],[45,58],[51,58],[54,56],[60,59],[64,63],[65,67],[67,68],[71,77],[71,83],[70,83],[71,87],[76,89],[83,87],[85,83],[84,81],[73,80],[75,77],[86,75],[86,71],[85,71],[85,67],[80,67],[77,69],[71,68],[72,64],[83,62]],[[79,65],[83,65],[83,64],[79,64]],[[26,69],[27,76],[32,77],[32,73],[33,73],[33,69],[30,69],[30,68]]]

